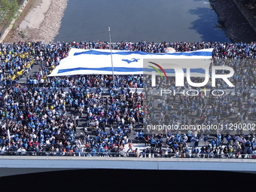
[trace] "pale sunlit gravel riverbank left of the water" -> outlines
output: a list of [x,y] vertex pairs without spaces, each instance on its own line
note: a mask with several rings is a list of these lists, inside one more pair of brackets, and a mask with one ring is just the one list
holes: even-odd
[[4,42],[52,42],[59,32],[68,0],[35,0],[26,16],[20,17]]

